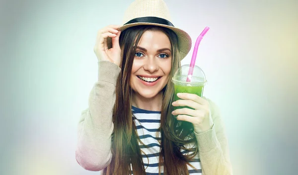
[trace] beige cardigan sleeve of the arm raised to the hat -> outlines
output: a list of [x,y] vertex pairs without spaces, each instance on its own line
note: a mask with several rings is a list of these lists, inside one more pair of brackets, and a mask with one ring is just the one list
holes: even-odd
[[111,161],[111,135],[113,133],[113,106],[115,85],[120,68],[100,62],[98,82],[93,86],[88,105],[78,125],[76,160],[86,170],[100,171]]

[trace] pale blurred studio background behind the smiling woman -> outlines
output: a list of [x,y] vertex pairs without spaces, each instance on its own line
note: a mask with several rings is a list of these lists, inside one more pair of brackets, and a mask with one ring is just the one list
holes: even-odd
[[[97,30],[121,25],[132,1],[0,1],[1,175],[99,174],[75,161],[76,127],[97,80]],[[298,1],[165,1],[193,43],[210,27],[196,64],[234,174],[297,175]]]

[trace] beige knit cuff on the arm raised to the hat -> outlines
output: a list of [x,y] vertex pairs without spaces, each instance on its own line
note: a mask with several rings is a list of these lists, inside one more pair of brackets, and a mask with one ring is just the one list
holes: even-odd
[[98,81],[105,81],[116,86],[121,69],[110,61],[98,62]]

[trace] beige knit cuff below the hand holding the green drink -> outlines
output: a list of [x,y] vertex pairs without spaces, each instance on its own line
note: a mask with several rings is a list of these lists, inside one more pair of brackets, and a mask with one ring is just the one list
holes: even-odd
[[196,134],[196,137],[198,141],[199,152],[209,152],[220,145],[216,136],[215,125],[213,125],[212,129],[204,133]]

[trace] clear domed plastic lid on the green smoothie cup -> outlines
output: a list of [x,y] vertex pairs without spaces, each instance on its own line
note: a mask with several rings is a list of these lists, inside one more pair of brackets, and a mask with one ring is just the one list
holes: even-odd
[[186,82],[189,68],[190,65],[181,66],[172,77],[172,82],[181,86],[205,86],[207,84],[206,76],[198,66],[193,68],[193,75],[189,76],[190,82]]

